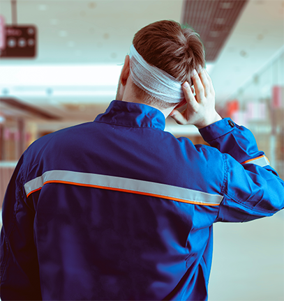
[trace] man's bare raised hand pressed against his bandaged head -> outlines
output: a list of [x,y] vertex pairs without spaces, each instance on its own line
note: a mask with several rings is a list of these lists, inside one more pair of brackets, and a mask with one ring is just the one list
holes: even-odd
[[181,125],[192,124],[198,129],[205,128],[207,125],[222,119],[215,110],[215,91],[211,78],[201,66],[198,73],[193,70],[191,78],[196,95],[193,95],[188,82],[184,82],[182,89],[187,107],[182,112],[173,109],[170,116]]

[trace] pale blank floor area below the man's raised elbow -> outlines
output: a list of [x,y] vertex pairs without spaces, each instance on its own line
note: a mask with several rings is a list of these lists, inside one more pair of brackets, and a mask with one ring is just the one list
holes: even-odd
[[283,301],[284,210],[214,226],[209,301]]

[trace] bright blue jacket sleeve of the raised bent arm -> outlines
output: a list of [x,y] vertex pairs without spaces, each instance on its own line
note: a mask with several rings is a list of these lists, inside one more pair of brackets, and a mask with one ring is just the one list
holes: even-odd
[[216,222],[246,222],[284,208],[284,182],[250,130],[224,118],[200,134],[223,153],[225,189]]

